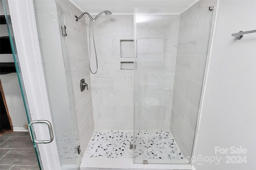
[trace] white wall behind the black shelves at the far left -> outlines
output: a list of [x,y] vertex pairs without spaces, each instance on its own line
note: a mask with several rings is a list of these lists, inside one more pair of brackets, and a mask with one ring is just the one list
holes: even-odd
[[[0,15],[4,15],[2,0],[0,0]],[[9,36],[6,24],[0,25],[0,36]],[[14,62],[12,54],[0,54],[0,62]],[[23,125],[28,120],[20,92],[17,73],[1,74],[0,79],[14,131],[26,131]]]

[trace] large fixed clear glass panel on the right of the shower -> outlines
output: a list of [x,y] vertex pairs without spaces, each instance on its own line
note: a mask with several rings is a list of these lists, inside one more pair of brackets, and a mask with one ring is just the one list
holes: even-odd
[[135,9],[134,163],[190,164],[214,5]]

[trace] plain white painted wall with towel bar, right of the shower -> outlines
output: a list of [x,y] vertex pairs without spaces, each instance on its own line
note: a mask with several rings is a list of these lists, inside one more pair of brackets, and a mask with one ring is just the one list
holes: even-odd
[[[192,162],[196,170],[256,169],[256,33],[241,40],[231,36],[256,29],[255,9],[254,0],[219,1],[194,152],[204,160]],[[227,153],[215,153],[215,147]],[[230,154],[230,147],[247,153]],[[220,163],[206,156],[221,157]],[[226,156],[246,156],[247,162],[226,163]]]

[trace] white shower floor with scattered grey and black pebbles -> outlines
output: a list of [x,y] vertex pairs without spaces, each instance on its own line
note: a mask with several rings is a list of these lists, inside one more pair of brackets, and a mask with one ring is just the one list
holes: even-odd
[[[132,158],[132,131],[94,131],[85,157]],[[135,158],[183,159],[170,131],[136,131]]]

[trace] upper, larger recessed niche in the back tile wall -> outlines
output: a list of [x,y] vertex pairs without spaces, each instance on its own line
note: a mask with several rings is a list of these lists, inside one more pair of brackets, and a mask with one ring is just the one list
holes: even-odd
[[120,39],[120,57],[124,57],[124,58],[134,57],[133,39]]

